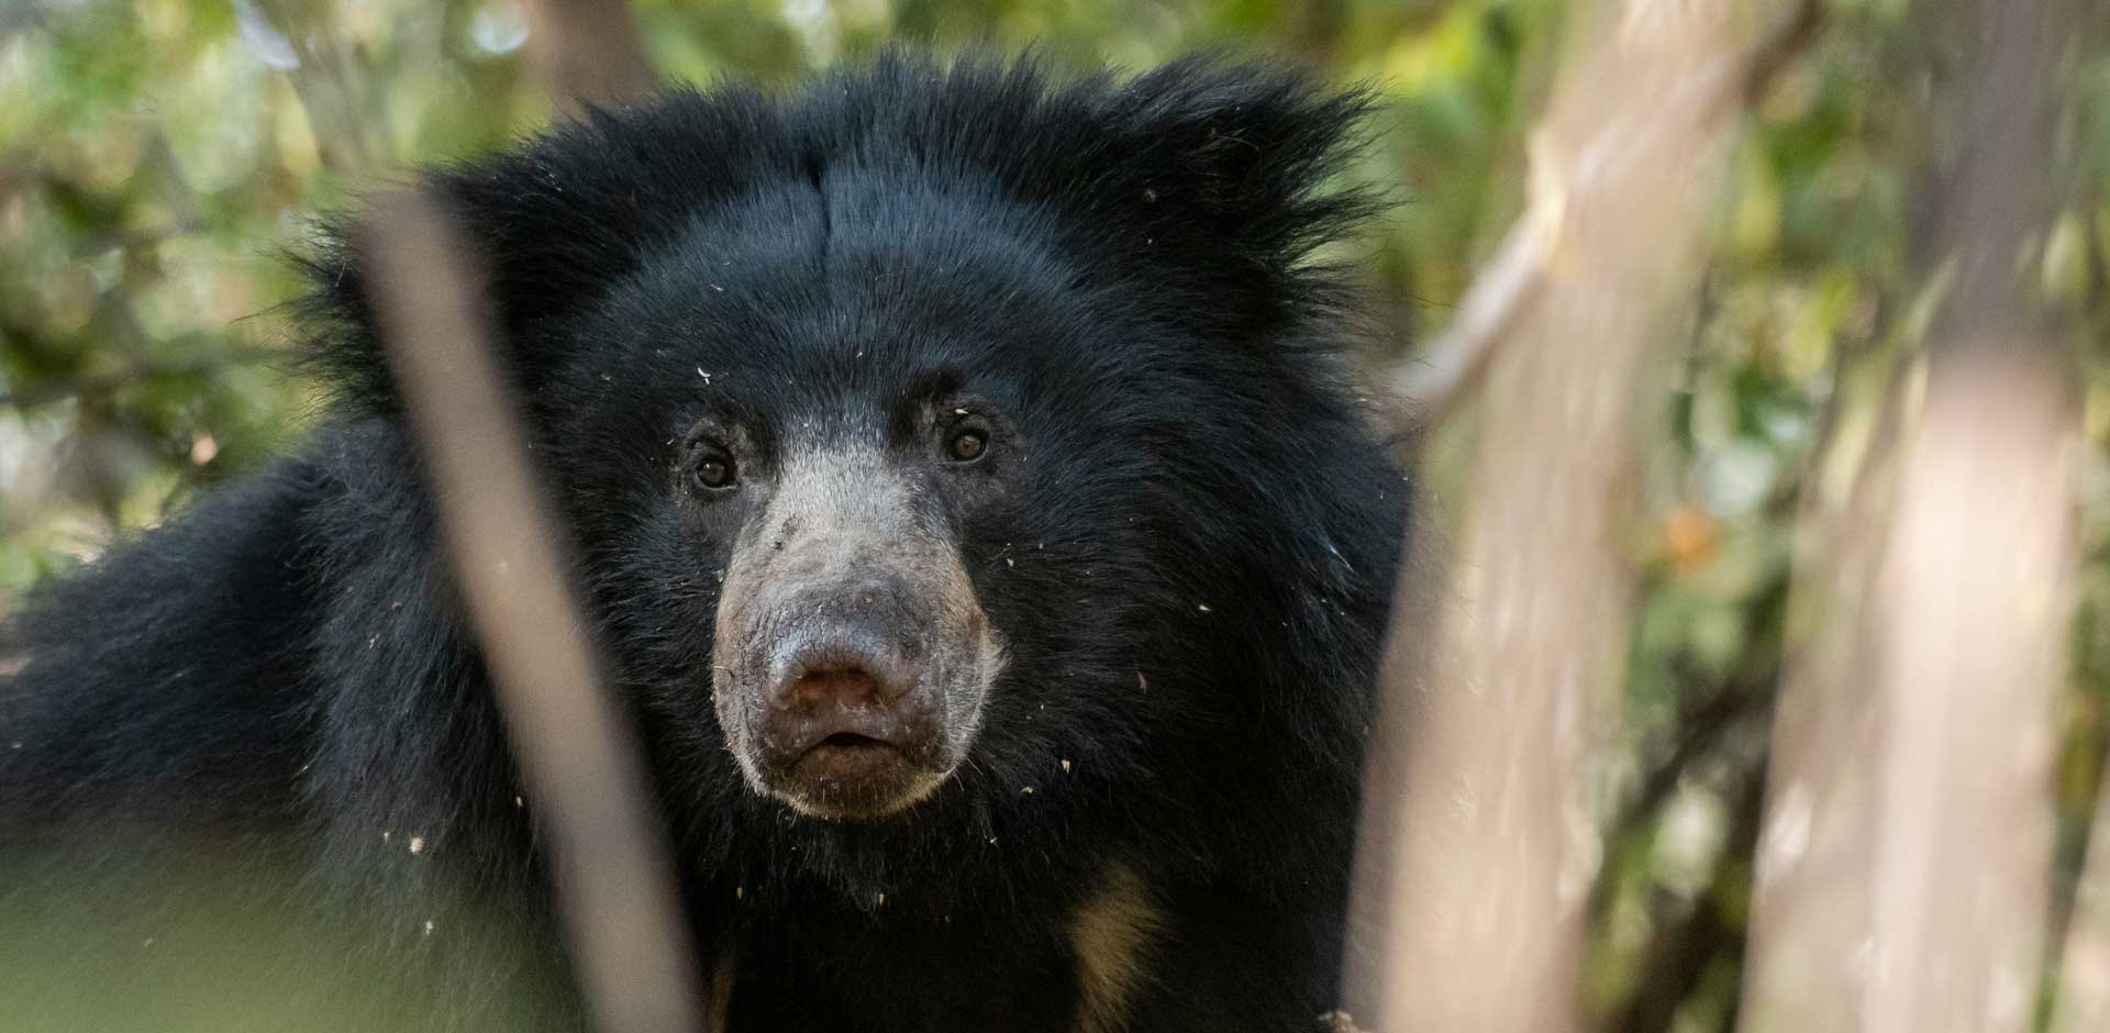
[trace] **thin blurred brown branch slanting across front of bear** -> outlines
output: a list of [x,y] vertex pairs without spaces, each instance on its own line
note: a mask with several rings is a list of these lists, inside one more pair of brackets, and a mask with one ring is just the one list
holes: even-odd
[[557,902],[593,1018],[606,1033],[705,1029],[637,742],[570,592],[473,266],[422,196],[380,204],[365,230],[388,358],[496,702],[551,831]]

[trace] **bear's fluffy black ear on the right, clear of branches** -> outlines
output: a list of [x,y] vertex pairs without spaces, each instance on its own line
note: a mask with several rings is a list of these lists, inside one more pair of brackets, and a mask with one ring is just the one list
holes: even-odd
[[1108,91],[1114,139],[1085,152],[1099,169],[1085,177],[1097,196],[1082,200],[1120,209],[1129,247],[1296,297],[1315,285],[1298,272],[1310,251],[1382,207],[1338,181],[1372,108],[1372,91],[1287,65],[1182,59]]

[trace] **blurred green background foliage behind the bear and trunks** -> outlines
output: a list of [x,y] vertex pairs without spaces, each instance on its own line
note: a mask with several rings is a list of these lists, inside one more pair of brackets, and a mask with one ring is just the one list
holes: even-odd
[[[639,0],[673,80],[789,84],[893,40],[1036,44],[1139,67],[1266,48],[1380,89],[1357,177],[1403,204],[1344,245],[1407,352],[1450,318],[1519,207],[1523,135],[1559,57],[1555,0]],[[1929,110],[1956,63],[1939,2],[1831,0],[1760,99],[1718,209],[1699,318],[1663,342],[1633,525],[1646,571],[1589,999],[1604,1029],[1734,1014],[1794,514],[1815,445],[1855,432],[1922,348],[1939,287],[1924,202],[1958,141]],[[2110,740],[2110,15],[2072,42],[2061,211],[2023,274],[2080,354],[2091,443],[2085,599],[2061,767],[2061,888]],[[298,447],[285,369],[306,219],[551,118],[511,0],[0,0],[0,611],[198,489]],[[1646,116],[1637,114],[1637,116]],[[1428,483],[1454,470],[1439,449]],[[2000,485],[1986,485],[2000,491]],[[1559,514],[1547,514],[1557,521]],[[2064,892],[2064,890],[2061,890]]]

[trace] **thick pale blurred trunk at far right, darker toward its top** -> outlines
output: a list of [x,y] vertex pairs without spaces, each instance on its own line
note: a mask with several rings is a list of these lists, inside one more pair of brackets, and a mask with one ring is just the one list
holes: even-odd
[[1937,196],[1943,316],[1880,415],[1840,413],[1806,491],[1749,1033],[2030,1025],[2080,420],[2023,282],[2051,221],[2066,13],[1971,11],[1937,105],[1967,141]]

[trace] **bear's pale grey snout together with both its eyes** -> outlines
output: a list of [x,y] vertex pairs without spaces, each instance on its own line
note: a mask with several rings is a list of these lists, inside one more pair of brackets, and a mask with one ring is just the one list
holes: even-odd
[[673,479],[688,533],[732,544],[720,729],[755,791],[819,818],[928,795],[1004,664],[956,533],[1019,476],[1019,443],[987,401],[939,382],[876,401],[859,409],[878,420],[798,426],[711,405]]

